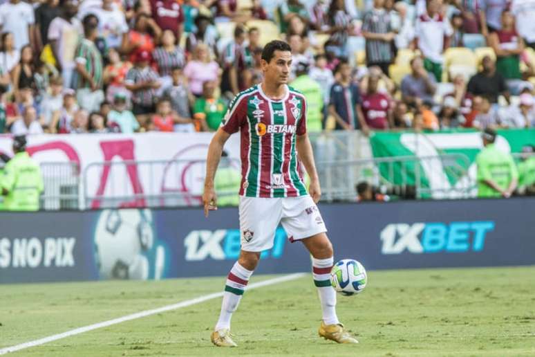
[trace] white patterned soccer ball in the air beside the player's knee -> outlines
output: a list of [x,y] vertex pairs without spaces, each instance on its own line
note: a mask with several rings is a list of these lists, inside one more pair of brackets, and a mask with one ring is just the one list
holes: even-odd
[[330,271],[330,283],[343,295],[362,293],[368,282],[364,266],[353,259],[341,259]]

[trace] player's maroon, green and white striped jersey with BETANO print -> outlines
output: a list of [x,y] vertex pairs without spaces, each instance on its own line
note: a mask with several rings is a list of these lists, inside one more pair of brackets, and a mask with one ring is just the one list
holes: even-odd
[[304,196],[296,135],[306,133],[306,100],[286,86],[282,100],[271,100],[256,84],[234,98],[221,127],[241,134],[241,189],[247,197]]

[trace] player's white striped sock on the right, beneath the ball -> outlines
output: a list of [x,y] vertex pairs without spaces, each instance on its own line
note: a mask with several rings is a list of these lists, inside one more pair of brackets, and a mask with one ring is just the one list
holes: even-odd
[[314,277],[314,284],[318,289],[325,324],[340,323],[336,315],[336,291],[332,289],[330,284],[330,269],[334,262],[332,257],[327,259],[312,257],[312,277]]

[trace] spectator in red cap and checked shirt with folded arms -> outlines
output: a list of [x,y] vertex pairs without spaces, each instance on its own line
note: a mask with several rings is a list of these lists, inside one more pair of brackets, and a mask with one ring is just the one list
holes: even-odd
[[[160,88],[158,73],[149,66],[151,53],[142,51],[135,57],[134,66],[126,73],[124,84],[132,92],[132,112],[141,125],[154,113],[156,89]],[[124,131],[123,131],[124,132]]]

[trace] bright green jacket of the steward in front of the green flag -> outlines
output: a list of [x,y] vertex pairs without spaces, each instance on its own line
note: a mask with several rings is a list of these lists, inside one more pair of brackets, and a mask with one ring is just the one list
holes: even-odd
[[483,148],[476,157],[478,165],[478,197],[499,197],[500,192],[489,187],[484,181],[492,180],[503,190],[518,178],[518,170],[511,154],[501,151],[494,144]]

